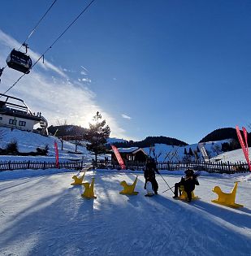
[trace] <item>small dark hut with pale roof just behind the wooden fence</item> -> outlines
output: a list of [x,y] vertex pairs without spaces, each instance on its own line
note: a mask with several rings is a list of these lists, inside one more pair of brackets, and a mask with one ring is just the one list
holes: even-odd
[[[118,148],[119,154],[123,161],[126,162],[145,162],[147,154],[142,148]],[[113,150],[111,150],[111,162],[116,162],[117,158]]]

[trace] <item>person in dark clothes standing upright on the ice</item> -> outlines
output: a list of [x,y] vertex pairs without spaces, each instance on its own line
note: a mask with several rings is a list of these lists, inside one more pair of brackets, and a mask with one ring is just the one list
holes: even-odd
[[158,182],[155,178],[155,172],[158,172],[157,165],[154,161],[154,158],[147,158],[146,164],[145,164],[145,171],[144,171],[144,177],[145,177],[145,186],[144,188],[146,189],[146,183],[147,181],[150,181],[154,190],[155,194],[158,194]]

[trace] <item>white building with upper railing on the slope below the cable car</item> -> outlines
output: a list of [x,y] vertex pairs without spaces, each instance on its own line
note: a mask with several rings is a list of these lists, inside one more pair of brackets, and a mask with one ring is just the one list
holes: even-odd
[[47,135],[48,122],[40,112],[32,113],[22,99],[0,93],[0,127],[35,132],[36,124],[40,124],[38,131]]

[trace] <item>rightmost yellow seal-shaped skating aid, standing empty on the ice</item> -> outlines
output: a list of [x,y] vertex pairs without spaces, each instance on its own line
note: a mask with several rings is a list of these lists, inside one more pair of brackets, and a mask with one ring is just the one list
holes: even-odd
[[219,205],[223,205],[223,206],[228,206],[228,207],[232,207],[232,208],[239,208],[239,207],[243,207],[242,205],[236,203],[236,191],[237,191],[237,187],[238,187],[238,182],[236,181],[235,186],[232,189],[231,193],[224,193],[219,186],[214,187],[214,189],[212,189],[212,191],[214,193],[218,194],[218,198],[215,200],[212,200],[212,202],[218,203]]

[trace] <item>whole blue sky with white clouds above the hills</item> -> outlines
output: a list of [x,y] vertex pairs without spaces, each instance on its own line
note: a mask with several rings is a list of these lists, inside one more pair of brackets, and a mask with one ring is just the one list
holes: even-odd
[[[2,2],[0,66],[53,1]],[[33,60],[88,2],[58,0],[29,38]],[[96,111],[111,136],[196,143],[250,123],[250,1],[100,1],[9,94],[49,124],[88,127]],[[1,93],[19,72],[6,68]]]

